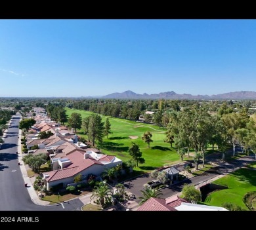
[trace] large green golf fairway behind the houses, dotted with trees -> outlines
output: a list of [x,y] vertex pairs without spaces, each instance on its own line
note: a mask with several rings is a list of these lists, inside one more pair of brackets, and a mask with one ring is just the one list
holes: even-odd
[[[77,109],[66,108],[66,113],[70,116],[72,113],[81,113],[81,116],[88,117],[92,113],[89,111],[82,111]],[[102,121],[106,121],[106,116],[102,115]],[[163,164],[167,163],[179,163],[180,157],[176,150],[171,148],[169,144],[163,142],[165,139],[165,128],[159,128],[159,126],[148,125],[144,123],[137,123],[135,121],[129,121],[125,119],[119,119],[114,117],[108,117],[111,124],[111,132],[108,138],[103,139],[103,143],[100,146],[100,150],[108,155],[116,155],[119,159],[127,161],[131,159],[128,149],[131,146],[131,142],[139,144],[142,157],[145,159],[144,164],[139,164],[139,167],[134,168],[136,171],[150,171],[154,168],[159,168]],[[142,141],[142,135],[144,132],[150,131],[152,133],[153,142],[148,144]],[[83,134],[83,130],[77,130],[79,136],[87,136]],[[129,136],[137,136],[137,139],[131,139]]]

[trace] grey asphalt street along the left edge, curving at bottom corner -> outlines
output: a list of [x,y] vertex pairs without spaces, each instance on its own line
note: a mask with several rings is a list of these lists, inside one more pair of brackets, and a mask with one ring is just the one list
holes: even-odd
[[79,199],[58,205],[40,206],[34,204],[24,186],[22,172],[18,166],[18,116],[12,117],[5,144],[0,149],[0,210],[1,211],[65,211],[81,210]]

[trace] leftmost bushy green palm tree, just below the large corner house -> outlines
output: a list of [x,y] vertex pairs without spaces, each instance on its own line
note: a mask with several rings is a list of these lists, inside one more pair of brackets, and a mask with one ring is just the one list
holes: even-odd
[[112,191],[106,185],[104,182],[98,183],[98,185],[95,186],[95,189],[93,189],[93,194],[91,195],[91,200],[93,198],[97,198],[100,202],[101,206],[103,206],[106,201],[110,200],[110,197],[113,195]]

